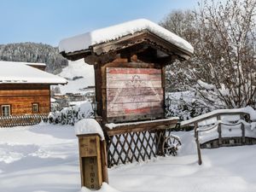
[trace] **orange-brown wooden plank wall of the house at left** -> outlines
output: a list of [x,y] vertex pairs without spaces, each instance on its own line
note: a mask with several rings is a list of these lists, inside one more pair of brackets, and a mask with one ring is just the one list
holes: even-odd
[[32,103],[38,103],[39,113],[49,113],[49,84],[0,84],[1,105],[11,106],[11,115],[32,114]]

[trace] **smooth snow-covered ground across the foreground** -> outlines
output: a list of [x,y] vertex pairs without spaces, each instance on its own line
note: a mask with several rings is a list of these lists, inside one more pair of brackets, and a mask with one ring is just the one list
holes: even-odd
[[[256,191],[256,145],[203,149],[203,164],[198,166],[193,132],[175,134],[183,141],[177,157],[115,166],[108,170],[110,186],[101,191]],[[80,191],[73,127],[41,124],[0,129],[0,191]]]

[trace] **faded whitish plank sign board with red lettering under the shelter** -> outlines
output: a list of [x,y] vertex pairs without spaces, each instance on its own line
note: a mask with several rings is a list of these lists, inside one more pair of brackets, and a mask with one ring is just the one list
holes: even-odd
[[161,69],[107,67],[107,117],[125,120],[163,116]]

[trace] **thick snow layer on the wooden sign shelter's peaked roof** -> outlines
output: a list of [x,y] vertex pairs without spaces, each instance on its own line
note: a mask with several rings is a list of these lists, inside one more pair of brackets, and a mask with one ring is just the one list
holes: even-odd
[[131,20],[119,25],[109,26],[92,32],[86,32],[84,34],[74,36],[73,38],[65,38],[61,40],[59,50],[60,52],[64,51],[69,53],[89,49],[92,45],[107,43],[109,41],[122,38],[126,35],[142,32],[143,30],[148,30],[160,38],[164,38],[171,44],[175,44],[177,47],[189,51],[191,54],[194,52],[194,48],[186,40],[166,30],[162,26],[145,19]]

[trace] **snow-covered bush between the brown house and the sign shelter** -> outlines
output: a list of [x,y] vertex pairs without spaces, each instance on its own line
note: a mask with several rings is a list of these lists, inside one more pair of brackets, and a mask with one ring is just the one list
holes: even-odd
[[93,110],[90,102],[83,102],[82,104],[63,108],[61,111],[56,111],[49,114],[49,123],[74,125],[80,119],[90,118],[93,115]]

